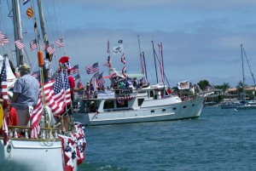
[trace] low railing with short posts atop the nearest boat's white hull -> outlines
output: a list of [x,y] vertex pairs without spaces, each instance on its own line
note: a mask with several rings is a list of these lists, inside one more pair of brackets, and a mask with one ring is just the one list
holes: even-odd
[[[32,138],[32,128],[24,126],[8,126],[9,139],[35,139]],[[60,130],[58,128],[40,128],[40,135],[38,139],[41,140],[55,140],[58,138]]]

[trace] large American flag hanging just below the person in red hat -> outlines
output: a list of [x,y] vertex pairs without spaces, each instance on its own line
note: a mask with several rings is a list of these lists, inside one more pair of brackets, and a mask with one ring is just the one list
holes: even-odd
[[[63,83],[62,83],[63,76]],[[64,88],[63,88],[64,84]],[[60,115],[65,105],[71,104],[70,86],[67,80],[67,71],[57,72],[55,80],[44,85],[45,103],[54,115]]]

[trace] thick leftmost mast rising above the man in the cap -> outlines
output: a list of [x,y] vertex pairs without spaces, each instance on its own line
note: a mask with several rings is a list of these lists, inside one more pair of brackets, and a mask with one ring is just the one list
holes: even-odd
[[[20,1],[19,0],[12,0],[13,5],[13,20],[14,20],[14,27],[15,27],[15,41],[22,39],[22,27],[21,27],[21,17],[20,17]],[[20,67],[24,64],[24,51],[23,48],[19,49],[15,46],[16,52],[16,63],[17,67]]]

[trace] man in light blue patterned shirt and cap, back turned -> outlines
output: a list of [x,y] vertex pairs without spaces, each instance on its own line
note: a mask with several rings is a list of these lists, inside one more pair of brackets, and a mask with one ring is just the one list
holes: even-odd
[[15,107],[20,126],[27,126],[30,120],[30,111],[38,103],[39,83],[37,78],[30,75],[30,66],[20,66],[20,78],[15,82],[11,102]]

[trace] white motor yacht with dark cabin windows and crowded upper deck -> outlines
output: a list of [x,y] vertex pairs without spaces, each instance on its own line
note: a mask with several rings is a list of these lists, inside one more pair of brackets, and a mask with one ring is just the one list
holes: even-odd
[[[159,92],[162,94],[161,97],[158,97]],[[97,92],[96,98],[91,99],[81,94],[73,117],[75,121],[85,125],[200,117],[205,99],[206,97],[201,95],[190,100],[181,100],[178,96],[167,94],[166,87],[162,83],[142,88],[108,89]]]

